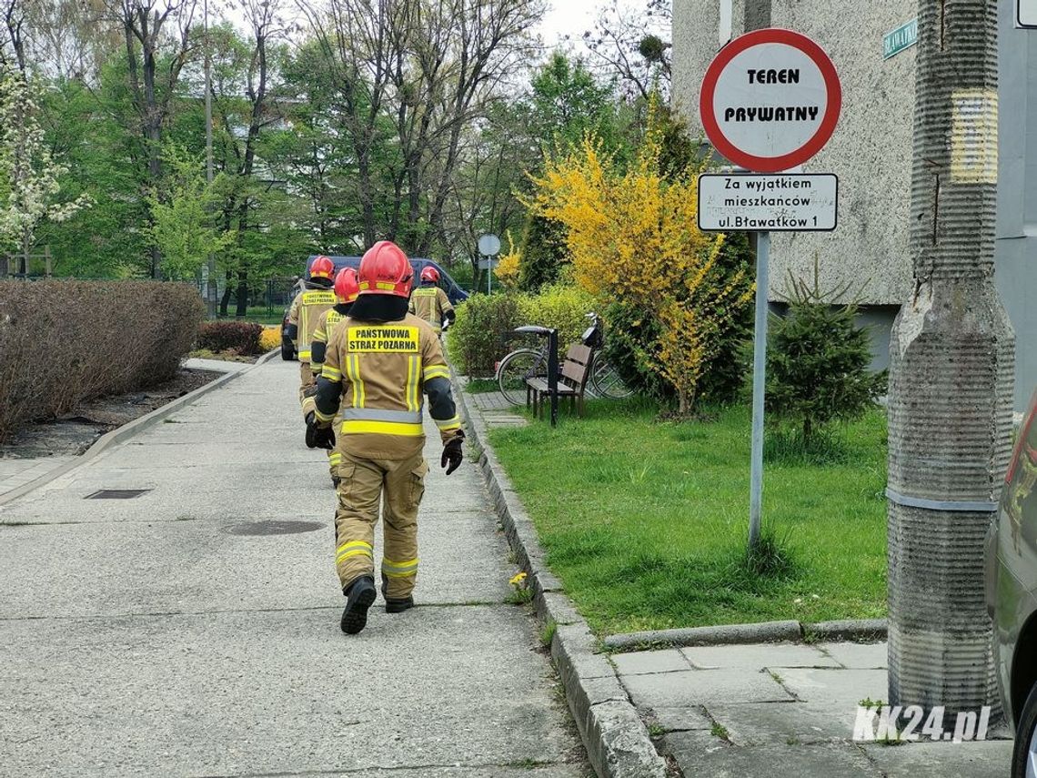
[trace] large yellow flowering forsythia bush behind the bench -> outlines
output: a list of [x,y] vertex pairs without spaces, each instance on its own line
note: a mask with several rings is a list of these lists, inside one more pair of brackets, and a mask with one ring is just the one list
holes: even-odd
[[[657,109],[651,109],[656,112]],[[639,365],[670,385],[690,412],[704,365],[753,294],[748,268],[718,263],[725,235],[698,229],[701,166],[661,170],[662,132],[649,116],[646,138],[625,170],[588,137],[549,159],[526,205],[562,223],[572,274],[586,291],[640,311],[632,326],[650,333]]]

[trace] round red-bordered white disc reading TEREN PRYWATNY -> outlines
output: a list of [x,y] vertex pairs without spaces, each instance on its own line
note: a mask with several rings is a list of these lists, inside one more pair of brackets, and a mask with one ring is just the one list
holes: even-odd
[[721,49],[706,71],[699,111],[721,155],[757,173],[802,165],[839,122],[835,65],[806,35],[756,30]]

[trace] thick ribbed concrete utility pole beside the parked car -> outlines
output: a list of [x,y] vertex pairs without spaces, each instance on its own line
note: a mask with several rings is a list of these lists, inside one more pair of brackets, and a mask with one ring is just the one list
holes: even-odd
[[948,717],[997,704],[983,538],[1009,456],[1014,340],[992,278],[997,22],[996,0],[919,3],[915,291],[890,346],[890,704]]

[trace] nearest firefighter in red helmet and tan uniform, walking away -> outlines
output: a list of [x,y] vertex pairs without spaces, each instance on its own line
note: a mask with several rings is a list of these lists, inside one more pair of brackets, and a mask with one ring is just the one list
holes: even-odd
[[[346,596],[341,628],[359,633],[374,603],[374,526],[382,504],[382,594],[387,613],[414,606],[418,506],[428,465],[423,456],[424,397],[443,441],[442,467],[461,463],[465,434],[450,392],[450,371],[432,328],[408,312],[414,271],[394,243],[364,254],[360,295],[330,334],[307,440],[335,447],[339,465],[335,564]],[[333,430],[336,416],[340,425]]]

